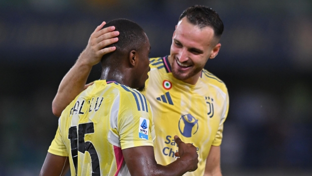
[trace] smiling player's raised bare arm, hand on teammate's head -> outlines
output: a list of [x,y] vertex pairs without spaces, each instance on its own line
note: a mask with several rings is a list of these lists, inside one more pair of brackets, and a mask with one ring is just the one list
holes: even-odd
[[117,42],[118,38],[116,36],[119,35],[118,31],[114,31],[114,26],[101,29],[105,24],[103,22],[96,27],[89,38],[88,45],[79,55],[75,65],[63,78],[57,95],[52,102],[52,111],[56,116],[61,116],[65,107],[87,86],[92,84],[85,85],[92,66],[99,63],[104,54],[116,49],[115,46],[104,48]]

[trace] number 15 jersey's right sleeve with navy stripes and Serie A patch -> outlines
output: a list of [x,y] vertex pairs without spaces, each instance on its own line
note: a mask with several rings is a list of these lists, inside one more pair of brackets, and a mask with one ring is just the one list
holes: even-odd
[[146,98],[136,90],[120,97],[118,132],[122,149],[153,146],[154,127],[152,114]]

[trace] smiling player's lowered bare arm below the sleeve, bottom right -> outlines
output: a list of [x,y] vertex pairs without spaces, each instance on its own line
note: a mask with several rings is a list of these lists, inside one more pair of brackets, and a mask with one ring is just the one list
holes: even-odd
[[222,176],[220,166],[220,146],[211,146],[206,160],[204,176]]

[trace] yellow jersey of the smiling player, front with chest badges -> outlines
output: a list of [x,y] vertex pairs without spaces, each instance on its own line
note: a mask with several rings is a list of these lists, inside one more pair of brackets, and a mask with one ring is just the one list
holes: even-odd
[[197,148],[198,168],[185,175],[203,175],[212,145],[221,145],[229,97],[225,84],[202,70],[196,85],[177,80],[171,73],[168,56],[150,59],[146,98],[151,104],[155,133],[155,158],[167,165],[175,160],[178,147],[174,136]]

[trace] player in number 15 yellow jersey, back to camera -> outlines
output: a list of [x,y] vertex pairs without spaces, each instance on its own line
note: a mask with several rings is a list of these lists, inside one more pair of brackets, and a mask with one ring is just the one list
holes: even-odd
[[101,80],[81,92],[62,112],[40,175],[182,175],[197,168],[192,144],[175,142],[179,159],[154,158],[152,110],[139,91],[148,78],[150,45],[136,23],[118,19],[115,52],[102,58]]

